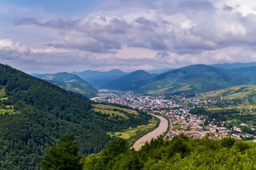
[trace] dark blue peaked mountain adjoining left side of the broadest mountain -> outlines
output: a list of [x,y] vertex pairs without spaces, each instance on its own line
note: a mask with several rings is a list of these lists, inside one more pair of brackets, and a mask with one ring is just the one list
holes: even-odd
[[145,72],[144,70],[138,70],[125,76],[119,77],[118,79],[115,79],[107,83],[106,85],[103,85],[101,88],[115,89],[121,91],[134,90],[138,88],[137,82],[151,79],[153,77],[154,75]]

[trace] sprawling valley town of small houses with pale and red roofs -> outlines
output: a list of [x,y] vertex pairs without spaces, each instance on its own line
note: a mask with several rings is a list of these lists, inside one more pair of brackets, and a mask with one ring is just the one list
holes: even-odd
[[[98,96],[101,96],[97,99],[98,102],[124,105],[133,109],[165,116],[171,122],[171,127],[166,135],[170,140],[174,136],[183,133],[191,138],[199,139],[204,137],[222,139],[231,136],[235,139],[256,142],[255,136],[241,130],[240,127],[248,127],[245,123],[241,123],[236,127],[231,121],[216,122],[215,119],[207,119],[206,115],[190,113],[196,108],[215,108],[216,106],[212,104],[218,102],[222,97],[201,99],[197,97],[184,98],[176,96],[172,99],[165,99],[165,96],[162,95],[146,95],[108,89],[99,90]],[[254,126],[250,127],[251,130],[255,130],[255,128]]]

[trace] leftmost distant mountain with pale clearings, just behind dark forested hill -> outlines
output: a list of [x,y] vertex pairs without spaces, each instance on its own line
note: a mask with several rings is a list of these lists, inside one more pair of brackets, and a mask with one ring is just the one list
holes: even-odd
[[93,88],[93,86],[91,86],[88,82],[75,74],[61,72],[56,74],[40,74],[35,77],[45,79],[48,82],[51,82],[54,85],[58,85],[67,91],[80,93],[88,98],[97,95],[96,88]]

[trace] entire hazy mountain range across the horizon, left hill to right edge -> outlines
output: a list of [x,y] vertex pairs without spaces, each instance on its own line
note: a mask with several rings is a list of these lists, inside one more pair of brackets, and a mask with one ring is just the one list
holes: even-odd
[[[126,73],[119,69],[101,72],[86,70],[72,72],[69,76],[76,74],[75,79],[84,82],[70,82],[67,73],[54,74],[32,74],[38,78],[46,79],[66,90],[82,93],[85,96],[95,96],[96,91],[92,86],[109,88],[122,91],[134,90],[147,93],[163,94],[195,94],[207,91],[228,88],[234,85],[250,85],[256,81],[256,62],[250,63],[224,63],[214,65],[189,65],[168,70],[160,69],[154,71],[134,71]],[[150,73],[149,73],[150,72]],[[81,78],[80,78],[81,77]],[[74,77],[73,77],[74,78]],[[58,82],[58,83],[57,83]],[[81,87],[81,84],[86,85]],[[82,92],[85,91],[85,92]]]

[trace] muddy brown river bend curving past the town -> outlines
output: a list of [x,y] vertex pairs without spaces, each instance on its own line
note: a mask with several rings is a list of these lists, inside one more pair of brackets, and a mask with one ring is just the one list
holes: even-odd
[[168,127],[168,120],[165,119],[163,116],[158,116],[158,115],[154,115],[154,114],[151,114],[152,116],[156,116],[160,119],[160,124],[159,126],[147,133],[145,136],[142,136],[140,139],[138,139],[134,145],[132,146],[135,150],[140,150],[140,148],[143,146],[143,144],[148,141],[150,142],[151,139],[156,139],[157,136],[159,136],[160,134],[164,133],[166,130],[167,130],[167,127]]

